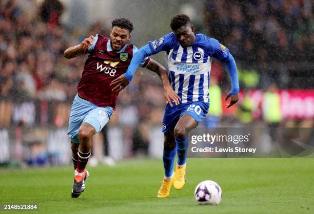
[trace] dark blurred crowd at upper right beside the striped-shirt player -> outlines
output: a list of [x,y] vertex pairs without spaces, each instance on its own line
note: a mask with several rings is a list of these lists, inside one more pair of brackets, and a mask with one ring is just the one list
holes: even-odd
[[[210,35],[236,59],[258,63],[314,60],[311,0],[207,1]],[[265,66],[266,66],[265,65]]]

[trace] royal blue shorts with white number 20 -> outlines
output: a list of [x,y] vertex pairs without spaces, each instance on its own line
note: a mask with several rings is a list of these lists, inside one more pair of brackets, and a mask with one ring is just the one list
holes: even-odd
[[209,108],[209,102],[188,102],[180,103],[171,107],[169,104],[166,105],[165,115],[163,119],[162,132],[166,133],[169,130],[173,130],[176,123],[179,121],[182,115],[188,114],[191,115],[198,123],[203,120]]

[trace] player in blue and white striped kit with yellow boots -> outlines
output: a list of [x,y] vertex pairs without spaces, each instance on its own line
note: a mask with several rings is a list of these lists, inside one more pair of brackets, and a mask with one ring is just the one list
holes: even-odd
[[[173,107],[166,105],[162,131],[164,133],[163,162],[165,177],[158,191],[159,198],[169,196],[173,183],[175,189],[185,184],[186,156],[188,149],[187,130],[194,129],[205,118],[209,108],[209,73],[212,57],[225,63],[231,78],[231,91],[226,100],[231,98],[231,105],[239,100],[239,82],[237,66],[229,50],[218,40],[203,34],[195,34],[187,15],[176,15],[172,18],[172,33],[150,41],[132,58],[127,72],[112,83],[114,90],[131,81],[141,61],[150,55],[165,51],[167,72],[172,89],[179,95],[180,104]],[[174,157],[178,154],[175,173]]]

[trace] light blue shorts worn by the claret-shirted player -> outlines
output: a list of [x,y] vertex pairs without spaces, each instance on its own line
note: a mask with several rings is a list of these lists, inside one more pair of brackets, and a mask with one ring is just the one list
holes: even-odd
[[111,107],[99,107],[90,101],[82,99],[76,94],[71,108],[68,135],[73,143],[79,143],[78,129],[83,122],[91,124],[96,133],[100,132],[109,121],[113,109]]

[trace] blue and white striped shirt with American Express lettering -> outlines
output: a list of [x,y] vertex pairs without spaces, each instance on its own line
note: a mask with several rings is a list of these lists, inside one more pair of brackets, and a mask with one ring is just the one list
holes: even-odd
[[229,50],[218,40],[196,34],[194,43],[183,47],[173,33],[149,42],[153,54],[165,51],[167,71],[172,89],[182,103],[209,102],[209,74],[212,57],[221,61],[229,59]]

